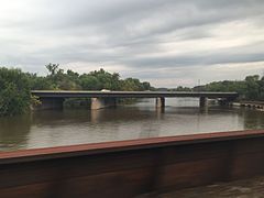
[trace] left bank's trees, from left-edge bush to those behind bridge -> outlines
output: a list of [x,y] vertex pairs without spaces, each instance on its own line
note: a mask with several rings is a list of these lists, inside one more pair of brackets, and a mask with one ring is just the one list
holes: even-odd
[[121,79],[118,73],[103,69],[78,74],[64,70],[58,64],[46,65],[47,76],[23,73],[18,68],[0,67],[0,116],[23,113],[37,99],[31,90],[154,90],[150,82],[136,78]]

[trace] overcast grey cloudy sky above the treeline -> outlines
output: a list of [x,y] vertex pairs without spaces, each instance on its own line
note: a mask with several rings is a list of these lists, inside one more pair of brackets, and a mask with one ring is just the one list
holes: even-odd
[[105,68],[155,87],[264,74],[263,0],[0,0],[0,66]]

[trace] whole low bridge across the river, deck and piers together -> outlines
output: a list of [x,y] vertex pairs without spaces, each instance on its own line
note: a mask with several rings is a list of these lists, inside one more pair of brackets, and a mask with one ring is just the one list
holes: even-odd
[[67,98],[91,98],[91,109],[102,109],[117,105],[118,98],[156,98],[156,107],[165,107],[165,98],[200,98],[200,107],[207,106],[207,99],[219,99],[228,103],[239,97],[238,92],[193,92],[193,91],[65,91],[32,90],[40,98],[40,109],[62,108]]

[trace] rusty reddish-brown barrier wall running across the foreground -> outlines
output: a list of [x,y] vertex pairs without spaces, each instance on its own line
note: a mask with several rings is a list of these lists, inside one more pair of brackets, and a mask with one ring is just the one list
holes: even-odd
[[0,153],[0,197],[134,197],[264,175],[264,130]]

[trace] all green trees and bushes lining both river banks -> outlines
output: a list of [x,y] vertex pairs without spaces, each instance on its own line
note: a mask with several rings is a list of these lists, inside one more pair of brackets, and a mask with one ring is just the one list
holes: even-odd
[[[48,64],[46,76],[23,73],[19,68],[0,67],[0,117],[15,116],[29,111],[40,101],[31,96],[31,90],[120,90],[120,91],[237,91],[239,100],[264,101],[264,76],[246,76],[244,80],[213,81],[194,88],[178,86],[174,89],[154,88],[148,81],[138,78],[121,79],[118,73],[105,69],[94,70],[88,74],[78,74],[74,70],[64,70],[59,64]],[[128,102],[131,102],[129,100]],[[134,100],[133,100],[134,101]],[[125,103],[125,101],[122,101]],[[68,99],[65,107],[88,107],[89,99]]]

